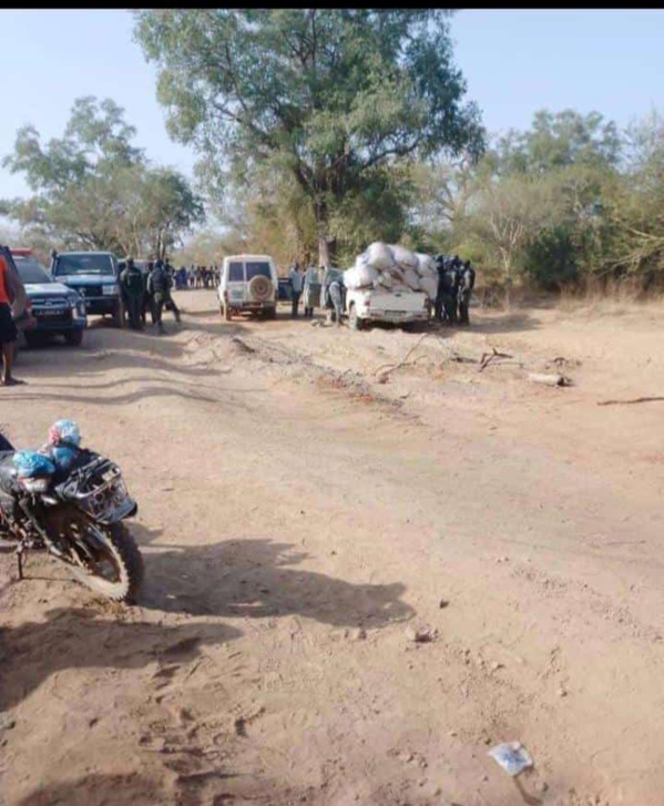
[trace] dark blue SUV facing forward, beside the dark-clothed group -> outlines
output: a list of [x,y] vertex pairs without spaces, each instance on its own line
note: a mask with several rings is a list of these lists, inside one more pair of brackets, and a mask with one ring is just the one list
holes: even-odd
[[51,274],[84,297],[88,314],[112,316],[116,325],[124,326],[118,258],[112,252],[54,252]]

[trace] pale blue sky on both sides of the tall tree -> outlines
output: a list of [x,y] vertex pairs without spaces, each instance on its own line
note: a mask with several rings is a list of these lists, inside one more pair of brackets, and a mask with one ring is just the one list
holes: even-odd
[[[156,71],[121,10],[0,10],[0,159],[32,123],[42,141],[64,131],[74,99],[112,98],[155,163],[193,175],[195,154],[173,143],[156,101]],[[541,109],[596,110],[619,125],[664,108],[664,11],[466,10],[452,17],[467,98],[491,132],[527,129]],[[0,198],[28,196],[0,167]]]

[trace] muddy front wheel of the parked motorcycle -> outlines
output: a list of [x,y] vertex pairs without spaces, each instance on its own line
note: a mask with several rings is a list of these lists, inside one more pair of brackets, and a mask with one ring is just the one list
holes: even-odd
[[89,557],[80,565],[70,565],[81,584],[112,602],[130,604],[136,600],[143,581],[143,558],[123,523],[89,523],[98,540],[85,541]]

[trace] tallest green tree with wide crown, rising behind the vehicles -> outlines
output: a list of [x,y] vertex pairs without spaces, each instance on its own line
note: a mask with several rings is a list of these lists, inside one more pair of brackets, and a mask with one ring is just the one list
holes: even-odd
[[[171,134],[208,182],[251,184],[267,163],[293,177],[328,264],[341,217],[367,210],[381,173],[416,155],[483,147],[452,61],[448,11],[204,9],[136,12],[159,68]],[[397,194],[398,196],[398,194]],[[392,200],[394,201],[394,200]],[[380,224],[380,221],[378,221]],[[380,237],[375,229],[371,238]]]

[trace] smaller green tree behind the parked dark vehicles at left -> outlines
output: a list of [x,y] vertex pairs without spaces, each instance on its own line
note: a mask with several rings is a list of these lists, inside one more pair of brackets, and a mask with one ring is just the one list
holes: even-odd
[[2,208],[39,242],[163,256],[202,221],[203,204],[178,173],[151,166],[134,135],[120,106],[92,96],[74,102],[61,139],[42,143],[23,126],[2,164],[34,195]]

